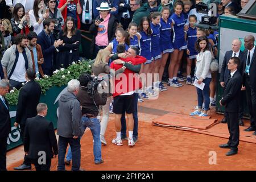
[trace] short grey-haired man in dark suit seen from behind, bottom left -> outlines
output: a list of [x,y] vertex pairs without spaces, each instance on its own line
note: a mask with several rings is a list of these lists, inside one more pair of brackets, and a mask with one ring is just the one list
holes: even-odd
[[47,121],[47,105],[39,103],[38,115],[28,118],[24,132],[24,151],[36,171],[49,171],[52,158],[58,154],[57,139],[52,122]]

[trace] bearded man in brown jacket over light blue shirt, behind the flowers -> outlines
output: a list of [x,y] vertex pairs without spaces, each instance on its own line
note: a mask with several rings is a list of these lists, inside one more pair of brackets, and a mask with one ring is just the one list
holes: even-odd
[[27,35],[28,39],[28,49],[30,49],[31,57],[33,61],[33,69],[36,72],[36,77],[44,77],[44,72],[42,69],[42,64],[44,63],[44,57],[42,48],[36,43],[38,40],[38,35],[34,31],[31,31]]

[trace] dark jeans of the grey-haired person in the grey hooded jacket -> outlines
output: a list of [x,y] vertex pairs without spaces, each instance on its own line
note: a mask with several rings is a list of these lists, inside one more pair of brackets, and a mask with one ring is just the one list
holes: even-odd
[[80,145],[80,138],[73,139],[73,138],[64,138],[59,136],[59,155],[58,155],[58,171],[65,170],[65,154],[68,147],[68,144],[72,148],[72,171],[79,171],[80,169],[80,162],[81,162],[81,145]]

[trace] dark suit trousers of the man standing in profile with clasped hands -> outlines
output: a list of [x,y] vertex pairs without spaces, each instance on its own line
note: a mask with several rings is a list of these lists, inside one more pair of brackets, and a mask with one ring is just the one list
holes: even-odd
[[228,113],[226,112],[226,119],[228,123],[228,129],[229,129],[229,146],[237,150],[237,146],[239,144],[239,119],[238,119],[238,113]]

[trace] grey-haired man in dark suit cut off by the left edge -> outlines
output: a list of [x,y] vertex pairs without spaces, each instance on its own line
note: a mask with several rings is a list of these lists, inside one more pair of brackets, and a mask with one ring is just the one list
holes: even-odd
[[9,92],[8,80],[0,80],[0,171],[6,171],[7,138],[11,133],[9,104],[5,94]]

